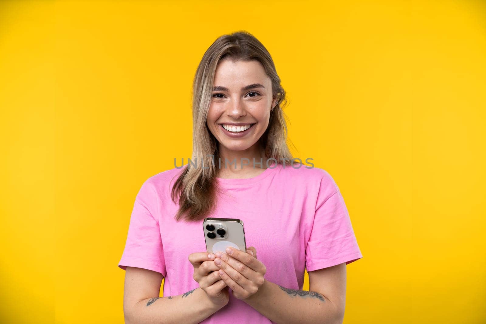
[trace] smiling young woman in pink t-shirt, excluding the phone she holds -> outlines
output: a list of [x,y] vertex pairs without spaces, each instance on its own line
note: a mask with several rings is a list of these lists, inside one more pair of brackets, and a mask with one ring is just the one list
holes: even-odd
[[[293,160],[282,102],[253,35],[208,48],[193,83],[194,164],[150,177],[135,199],[118,264],[126,323],[342,323],[346,265],[363,256],[333,178]],[[208,254],[206,217],[243,220],[251,246]]]

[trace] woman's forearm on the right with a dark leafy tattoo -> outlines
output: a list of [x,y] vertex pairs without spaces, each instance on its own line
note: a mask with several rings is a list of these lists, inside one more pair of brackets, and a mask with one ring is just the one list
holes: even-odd
[[342,323],[330,300],[322,294],[287,289],[268,280],[243,301],[278,324]]

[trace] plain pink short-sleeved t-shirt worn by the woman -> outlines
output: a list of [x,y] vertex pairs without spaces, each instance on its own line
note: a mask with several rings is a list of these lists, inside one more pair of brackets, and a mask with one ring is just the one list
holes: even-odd
[[[208,215],[243,220],[246,246],[257,249],[266,280],[302,290],[305,268],[311,272],[363,257],[343,196],[327,171],[271,167],[253,178],[218,178],[228,195]],[[163,296],[199,287],[188,256],[206,252],[203,221],[174,220],[178,205],[170,195],[181,171],[163,171],[143,183],[118,264],[123,270],[130,266],[162,273]],[[228,304],[200,323],[273,323],[229,291]]]

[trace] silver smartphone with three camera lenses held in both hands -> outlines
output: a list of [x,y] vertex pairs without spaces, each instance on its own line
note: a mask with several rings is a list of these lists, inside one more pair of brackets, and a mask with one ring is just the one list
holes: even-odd
[[204,238],[208,253],[221,251],[227,247],[246,252],[243,221],[236,218],[207,217],[203,221]]

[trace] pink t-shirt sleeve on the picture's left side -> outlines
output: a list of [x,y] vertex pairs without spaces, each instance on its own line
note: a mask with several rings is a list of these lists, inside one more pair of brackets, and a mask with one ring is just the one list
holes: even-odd
[[162,238],[156,219],[157,197],[155,188],[146,181],[135,199],[125,249],[118,266],[137,267],[162,273],[166,276]]

